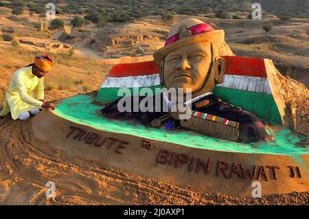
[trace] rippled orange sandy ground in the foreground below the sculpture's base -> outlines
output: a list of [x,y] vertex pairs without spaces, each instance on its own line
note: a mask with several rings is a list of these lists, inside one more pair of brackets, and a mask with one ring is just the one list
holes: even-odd
[[[309,192],[237,198],[162,183],[36,139],[30,120],[0,119],[0,204],[4,205],[308,205]],[[47,181],[56,198],[46,198]]]

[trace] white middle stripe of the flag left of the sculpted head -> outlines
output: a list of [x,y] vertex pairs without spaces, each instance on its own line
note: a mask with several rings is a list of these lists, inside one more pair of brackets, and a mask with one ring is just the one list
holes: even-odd
[[160,84],[158,73],[148,76],[107,77],[101,88],[111,87],[152,87]]

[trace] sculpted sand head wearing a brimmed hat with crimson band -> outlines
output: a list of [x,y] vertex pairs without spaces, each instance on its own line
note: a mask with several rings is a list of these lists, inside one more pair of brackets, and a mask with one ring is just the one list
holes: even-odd
[[223,82],[226,62],[232,55],[225,32],[198,19],[185,19],[174,25],[165,46],[155,51],[161,83],[167,89],[192,89],[192,97],[213,91]]

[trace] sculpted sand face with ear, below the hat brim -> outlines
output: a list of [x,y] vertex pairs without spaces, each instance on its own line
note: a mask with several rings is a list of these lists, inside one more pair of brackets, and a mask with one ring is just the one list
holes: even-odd
[[[179,49],[170,51],[164,58],[164,82],[165,87],[170,89],[183,88],[192,89],[192,93],[203,86],[207,72],[211,64],[210,43],[193,43]],[[225,60],[216,56],[218,52],[214,49],[214,67],[203,91],[212,91],[217,83],[223,82],[225,71]]]

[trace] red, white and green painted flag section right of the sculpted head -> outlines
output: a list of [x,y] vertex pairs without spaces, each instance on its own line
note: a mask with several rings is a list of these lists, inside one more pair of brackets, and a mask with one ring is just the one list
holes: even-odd
[[227,61],[225,80],[214,89],[216,97],[240,106],[269,124],[282,124],[282,112],[273,97],[273,62],[264,58],[222,56]]

